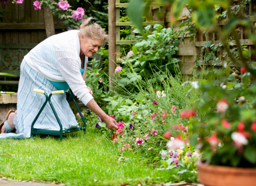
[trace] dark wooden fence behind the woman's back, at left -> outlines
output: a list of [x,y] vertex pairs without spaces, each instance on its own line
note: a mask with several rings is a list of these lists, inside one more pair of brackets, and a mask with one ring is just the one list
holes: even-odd
[[[34,10],[33,2],[0,4],[0,10],[5,10],[4,20],[0,22],[0,72],[19,76],[23,57],[46,39],[43,10]],[[56,17],[53,20],[55,34],[66,28]],[[18,84],[18,81],[0,81],[6,83]]]

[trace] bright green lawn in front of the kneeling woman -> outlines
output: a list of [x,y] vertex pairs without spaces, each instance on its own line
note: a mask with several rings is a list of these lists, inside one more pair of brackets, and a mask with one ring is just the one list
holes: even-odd
[[[82,131],[64,137],[1,139],[0,174],[13,180],[66,185],[150,185],[180,181],[175,170],[157,171],[131,151],[118,153],[104,136]],[[121,160],[122,159],[122,160]]]

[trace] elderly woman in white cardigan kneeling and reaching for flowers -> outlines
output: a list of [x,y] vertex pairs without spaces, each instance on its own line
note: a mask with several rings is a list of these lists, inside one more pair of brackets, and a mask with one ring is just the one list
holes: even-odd
[[[87,59],[98,52],[107,40],[108,35],[95,23],[95,19],[88,18],[81,24],[80,30],[51,36],[33,48],[20,66],[17,111],[9,111],[0,124],[0,138],[30,137],[31,124],[45,101],[44,95],[33,92],[33,89],[45,92],[71,89],[106,123],[108,129],[118,129],[116,121],[102,111],[92,97],[91,88],[85,84]],[[51,100],[63,129],[76,128],[78,123],[65,95],[54,95]],[[49,104],[38,117],[34,128],[59,129]],[[17,134],[10,133],[15,129]]]

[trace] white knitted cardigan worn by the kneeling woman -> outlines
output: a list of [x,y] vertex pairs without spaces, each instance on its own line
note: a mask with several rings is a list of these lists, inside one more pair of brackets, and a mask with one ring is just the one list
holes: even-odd
[[[93,99],[82,78],[78,30],[51,36],[24,57],[28,65],[50,81],[66,81],[85,105]],[[85,59],[87,61],[87,57]]]

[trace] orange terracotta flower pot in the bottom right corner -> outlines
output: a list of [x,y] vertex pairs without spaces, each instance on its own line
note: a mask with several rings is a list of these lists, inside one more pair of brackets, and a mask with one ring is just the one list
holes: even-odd
[[254,186],[256,168],[207,165],[197,162],[198,180],[205,186]]

